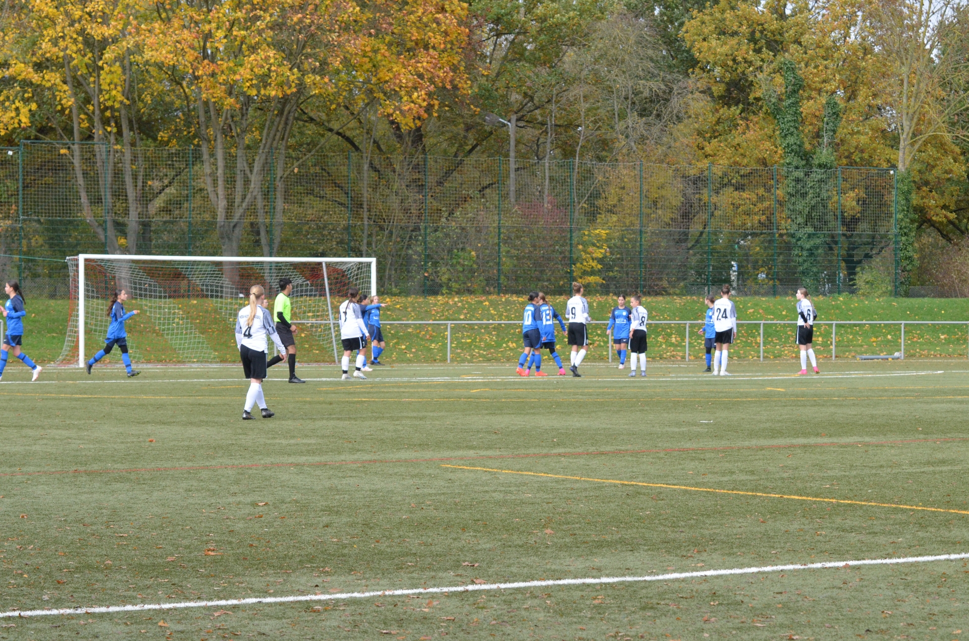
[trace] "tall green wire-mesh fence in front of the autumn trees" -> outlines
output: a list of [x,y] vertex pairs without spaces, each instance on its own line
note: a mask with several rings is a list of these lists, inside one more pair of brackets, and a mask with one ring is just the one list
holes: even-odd
[[[0,151],[0,269],[56,279],[78,253],[375,257],[389,293],[748,295],[897,289],[891,169],[670,167],[22,142]],[[511,177],[515,176],[512,187]],[[37,289],[37,288],[35,288]]]

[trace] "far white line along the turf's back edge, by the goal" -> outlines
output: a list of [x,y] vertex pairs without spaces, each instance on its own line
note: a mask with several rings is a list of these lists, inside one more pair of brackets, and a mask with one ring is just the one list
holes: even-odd
[[[925,375],[930,375],[930,374],[953,374],[953,372],[952,371],[947,372],[945,370],[937,370],[937,371],[932,371],[932,372],[897,372],[897,373],[892,373],[892,374],[822,374],[822,375],[819,375],[819,376],[810,376],[810,377],[803,377],[803,378],[802,377],[799,377],[797,374],[788,374],[788,375],[784,375],[784,376],[753,375],[753,376],[731,376],[729,380],[730,381],[804,381],[804,382],[807,382],[807,381],[827,381],[829,379],[879,379],[879,378],[886,378],[886,377],[925,376]],[[571,378],[572,377],[564,377],[563,380],[564,381],[568,381]],[[478,377],[470,377],[470,376],[463,376],[463,377],[381,377],[379,379],[377,379],[377,378],[370,378],[369,381],[370,382],[375,382],[375,383],[379,383],[379,382],[489,382],[489,381],[499,381],[500,382],[500,381],[521,381],[521,379],[522,379],[522,377],[519,377],[519,376],[508,376],[508,377],[499,377],[499,376],[489,376],[489,377],[484,377],[484,376],[478,376]],[[548,382],[551,382],[551,381],[559,381],[559,378],[558,377],[550,377],[550,376],[547,379],[535,379],[534,377],[530,377],[530,379],[535,380],[535,381],[544,381],[546,384],[548,384]],[[626,381],[628,379],[628,377],[625,376],[625,375],[620,375],[620,376],[616,376],[616,377],[608,377],[608,378],[606,378],[606,377],[593,378],[593,377],[590,377],[590,376],[585,376],[584,379],[586,381],[623,382],[623,381]],[[706,380],[706,379],[712,379],[713,381],[723,381],[724,380],[723,378],[720,378],[720,377],[713,377],[710,374],[705,374],[705,375],[703,375],[703,374],[685,374],[685,375],[684,374],[681,374],[681,375],[678,375],[678,376],[671,375],[671,376],[665,376],[665,377],[663,377],[663,376],[647,377],[647,380],[648,381],[652,381],[652,382],[662,381],[662,382],[691,382],[691,383],[695,383],[695,382],[703,381],[703,380]],[[266,379],[266,381],[267,382],[287,382],[286,379]],[[324,379],[306,378],[306,379],[304,379],[304,381],[307,381],[307,382],[338,382],[339,379],[336,378],[336,377],[327,377],[327,378],[324,378]],[[641,381],[641,379],[640,379],[640,381]],[[245,379],[243,379],[241,377],[237,377],[237,378],[233,378],[233,379],[150,379],[150,378],[144,378],[144,379],[139,379],[137,381],[121,381],[121,380],[119,380],[119,381],[35,381],[35,382],[31,382],[31,381],[7,381],[7,382],[0,382],[0,385],[20,385],[20,384],[24,384],[24,385],[42,385],[42,384],[47,384],[47,385],[54,385],[54,384],[67,384],[67,385],[78,385],[78,384],[96,384],[96,385],[117,385],[117,384],[124,384],[124,385],[138,385],[138,384],[145,384],[145,383],[147,383],[147,384],[156,384],[156,383],[160,383],[160,382],[175,382],[175,383],[177,383],[177,382],[238,382],[239,384],[243,384],[245,382]],[[341,386],[347,386],[347,387],[349,387],[351,385],[359,385],[359,384],[360,384],[359,382],[354,381],[354,382],[350,382],[350,383],[348,383],[346,385],[341,384]],[[542,384],[542,382],[535,382],[533,384],[539,385],[539,384]],[[641,384],[641,383],[629,381],[629,382],[626,382],[626,383],[623,383],[623,384],[634,385],[634,384]],[[714,384],[717,384],[717,383],[714,383]]]

